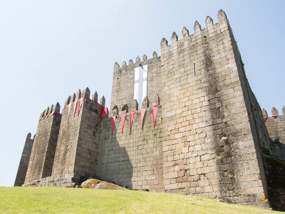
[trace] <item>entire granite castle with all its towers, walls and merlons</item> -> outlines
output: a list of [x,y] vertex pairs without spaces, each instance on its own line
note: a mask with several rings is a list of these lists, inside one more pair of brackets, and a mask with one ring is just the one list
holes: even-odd
[[[227,16],[219,10],[217,17],[213,23],[208,16],[204,29],[196,21],[192,35],[184,27],[180,40],[173,32],[171,44],[163,38],[161,56],[115,62],[113,134],[109,112],[101,117],[104,96],[97,102],[88,88],[69,96],[61,114],[58,103],[47,108],[34,139],[27,136],[15,186],[76,187],[94,177],[263,208],[284,203],[270,201],[264,158],[278,159],[285,170],[285,107],[280,116],[272,109],[277,117],[261,110]],[[133,95],[135,68],[143,65],[148,94],[141,127]],[[152,106],[158,106],[155,126]]]

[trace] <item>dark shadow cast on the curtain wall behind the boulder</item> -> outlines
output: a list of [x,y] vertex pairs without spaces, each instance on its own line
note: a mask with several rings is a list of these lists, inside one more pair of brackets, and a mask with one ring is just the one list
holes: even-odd
[[[111,122],[107,122],[104,129],[111,130]],[[116,133],[114,126],[113,135],[111,132],[100,135],[95,178],[132,188],[133,165],[124,143],[120,145],[117,141]]]

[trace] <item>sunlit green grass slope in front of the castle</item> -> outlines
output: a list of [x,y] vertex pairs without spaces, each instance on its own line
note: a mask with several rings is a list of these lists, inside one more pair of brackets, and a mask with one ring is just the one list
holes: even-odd
[[282,213],[188,195],[59,187],[0,187],[0,213]]

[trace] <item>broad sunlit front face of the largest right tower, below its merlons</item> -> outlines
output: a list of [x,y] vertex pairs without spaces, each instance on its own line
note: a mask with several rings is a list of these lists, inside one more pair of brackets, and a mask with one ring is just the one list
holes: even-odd
[[162,45],[166,192],[265,199],[232,42],[224,19]]

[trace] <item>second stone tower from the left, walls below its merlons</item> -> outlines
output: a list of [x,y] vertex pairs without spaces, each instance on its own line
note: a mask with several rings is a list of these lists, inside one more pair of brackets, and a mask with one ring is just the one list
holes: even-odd
[[39,121],[25,183],[51,175],[60,121],[61,114],[57,116],[50,114]]

